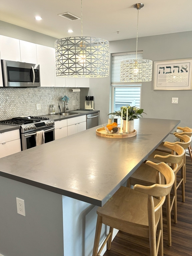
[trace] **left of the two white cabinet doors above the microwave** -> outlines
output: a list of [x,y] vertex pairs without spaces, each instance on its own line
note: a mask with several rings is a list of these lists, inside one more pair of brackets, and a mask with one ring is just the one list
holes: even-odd
[[1,35],[0,52],[2,60],[21,61],[19,39]]

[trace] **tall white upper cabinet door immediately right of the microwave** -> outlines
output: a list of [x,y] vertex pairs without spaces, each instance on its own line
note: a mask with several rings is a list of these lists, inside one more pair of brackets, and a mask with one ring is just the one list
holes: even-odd
[[55,49],[37,44],[37,63],[40,65],[41,86],[55,86]]

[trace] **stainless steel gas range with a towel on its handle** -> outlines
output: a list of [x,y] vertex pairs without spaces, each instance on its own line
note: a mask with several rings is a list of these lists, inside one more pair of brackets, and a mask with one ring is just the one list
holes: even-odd
[[9,120],[0,121],[1,124],[20,126],[22,150],[36,146],[36,132],[44,130],[45,143],[55,140],[54,120],[46,117],[20,116]]

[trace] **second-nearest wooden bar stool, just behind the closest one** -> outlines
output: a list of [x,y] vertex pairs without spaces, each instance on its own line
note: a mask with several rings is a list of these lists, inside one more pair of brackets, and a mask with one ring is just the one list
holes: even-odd
[[[177,189],[182,186],[182,201],[185,202],[185,183],[184,183],[184,164],[183,156],[185,150],[179,145],[170,145],[164,143],[164,147],[171,149],[172,155],[155,150],[151,155],[151,159],[157,162],[165,162],[166,164],[170,163],[171,167],[175,174],[175,181],[173,185],[173,199],[170,202],[170,193],[166,196],[166,211],[167,211],[167,232],[168,232],[168,245],[171,246],[171,210],[174,209],[174,222],[177,223]],[[178,155],[175,155],[175,154]],[[181,169],[182,167],[182,169]],[[177,172],[181,172],[181,180],[177,185]],[[156,183],[156,170],[150,166],[145,165],[144,163],[131,175],[127,180],[127,187],[135,184],[141,184],[149,186]]]

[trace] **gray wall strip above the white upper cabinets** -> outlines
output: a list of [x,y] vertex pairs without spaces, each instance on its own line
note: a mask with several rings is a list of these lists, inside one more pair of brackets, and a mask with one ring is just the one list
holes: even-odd
[[55,47],[55,40],[58,39],[5,21],[0,21],[0,35],[49,47]]

